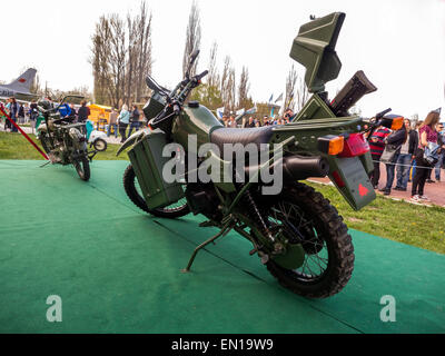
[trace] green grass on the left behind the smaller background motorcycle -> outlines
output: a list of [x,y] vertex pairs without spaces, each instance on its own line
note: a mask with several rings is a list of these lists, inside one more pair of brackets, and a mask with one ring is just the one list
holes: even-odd
[[[34,135],[29,137],[42,149]],[[93,159],[98,160],[128,160],[126,152],[116,157],[120,145],[108,144],[107,150],[98,152]],[[43,150],[43,149],[42,149]],[[43,159],[36,148],[21,134],[0,132],[0,159]]]

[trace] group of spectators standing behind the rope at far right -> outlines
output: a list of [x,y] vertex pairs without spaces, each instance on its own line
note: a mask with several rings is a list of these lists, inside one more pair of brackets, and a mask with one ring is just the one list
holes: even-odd
[[[386,196],[392,189],[407,191],[408,182],[412,182],[411,199],[429,200],[425,195],[425,184],[441,181],[441,169],[445,168],[445,130],[439,115],[437,109],[431,111],[424,121],[413,123],[405,118],[402,128],[395,131],[380,126],[367,138],[374,161],[370,180],[375,189],[378,189],[383,161],[386,182],[379,191]],[[390,154],[383,160],[385,150]],[[432,179],[433,171],[435,180]]]

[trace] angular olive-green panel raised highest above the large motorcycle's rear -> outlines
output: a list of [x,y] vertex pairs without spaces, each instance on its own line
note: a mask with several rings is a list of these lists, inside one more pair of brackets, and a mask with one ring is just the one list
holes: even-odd
[[334,12],[299,28],[289,56],[306,67],[305,82],[309,92],[323,91],[326,82],[338,77],[342,62],[335,46],[345,16]]

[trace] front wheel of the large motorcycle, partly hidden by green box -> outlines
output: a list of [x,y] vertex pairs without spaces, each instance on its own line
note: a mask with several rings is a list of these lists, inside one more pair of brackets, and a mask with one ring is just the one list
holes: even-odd
[[139,187],[138,178],[136,177],[135,169],[129,165],[123,174],[123,188],[130,200],[141,210],[149,212],[154,216],[161,218],[179,218],[190,212],[187,205],[187,199],[182,198],[177,202],[164,208],[149,209],[146,200],[144,199],[142,190]]

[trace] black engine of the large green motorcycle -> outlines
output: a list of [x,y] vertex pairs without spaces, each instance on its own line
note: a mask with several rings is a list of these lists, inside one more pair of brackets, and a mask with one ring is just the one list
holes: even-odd
[[221,218],[219,198],[212,184],[188,184],[186,198],[194,215],[202,214],[212,220]]

